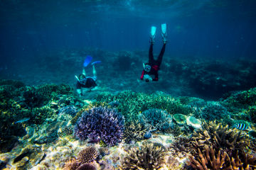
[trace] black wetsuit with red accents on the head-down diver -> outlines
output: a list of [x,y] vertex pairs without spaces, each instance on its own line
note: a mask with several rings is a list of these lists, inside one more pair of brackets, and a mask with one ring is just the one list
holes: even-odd
[[166,44],[164,43],[163,47],[161,48],[161,52],[159,54],[159,57],[157,57],[157,60],[154,60],[153,44],[150,45],[150,47],[149,47],[149,65],[151,66],[151,69],[150,69],[149,72],[146,72],[143,69],[142,76],[141,76],[140,79],[143,80],[144,74],[149,74],[149,75],[154,75],[154,78],[152,79],[153,81],[159,81],[158,71],[160,69],[161,61],[162,61],[163,56],[164,56],[165,46],[166,46]]

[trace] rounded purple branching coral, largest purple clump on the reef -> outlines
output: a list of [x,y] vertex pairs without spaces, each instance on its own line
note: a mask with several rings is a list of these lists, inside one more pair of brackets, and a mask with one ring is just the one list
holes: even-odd
[[78,119],[75,136],[90,142],[105,142],[113,146],[122,141],[124,117],[111,108],[92,108]]

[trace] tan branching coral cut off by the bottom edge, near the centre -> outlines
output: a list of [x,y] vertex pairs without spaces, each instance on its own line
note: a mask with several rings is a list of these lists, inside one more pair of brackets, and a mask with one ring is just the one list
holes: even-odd
[[146,143],[142,147],[129,149],[122,161],[122,169],[159,169],[164,164],[165,152],[162,147]]

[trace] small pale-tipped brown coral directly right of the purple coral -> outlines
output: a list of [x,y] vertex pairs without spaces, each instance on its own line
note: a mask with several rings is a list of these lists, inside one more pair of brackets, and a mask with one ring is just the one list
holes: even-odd
[[144,139],[146,129],[138,120],[132,121],[132,123],[125,123],[124,127],[124,141],[126,143],[132,141],[137,142]]

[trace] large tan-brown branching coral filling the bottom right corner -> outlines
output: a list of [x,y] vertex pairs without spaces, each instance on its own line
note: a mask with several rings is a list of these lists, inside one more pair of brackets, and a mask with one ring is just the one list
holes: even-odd
[[250,138],[245,132],[215,122],[203,123],[193,133],[190,164],[194,169],[254,169],[256,157],[246,154]]

